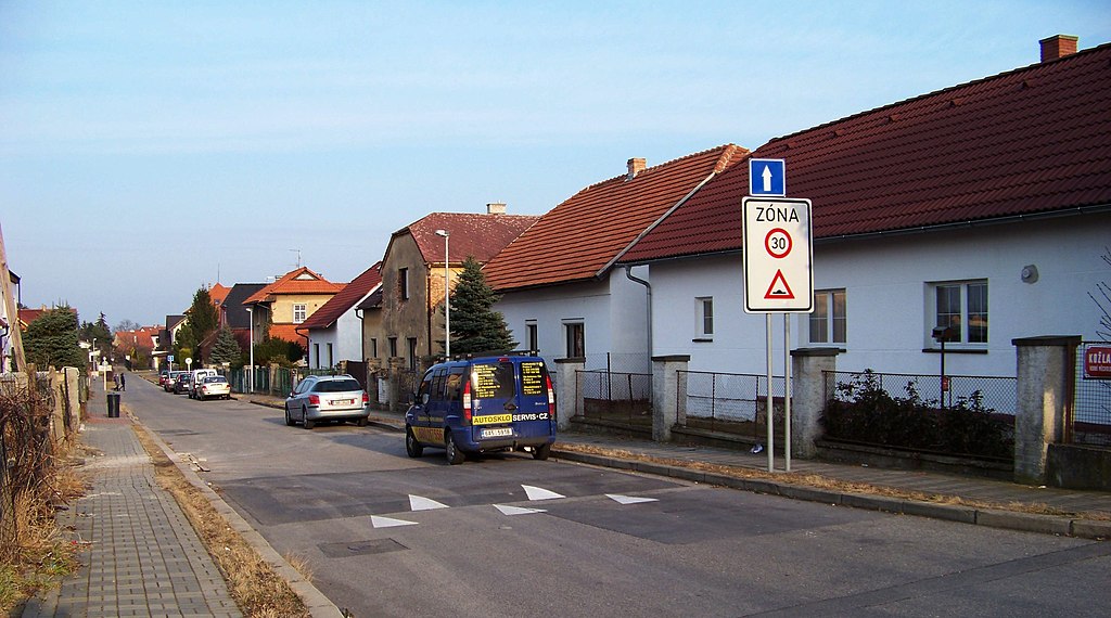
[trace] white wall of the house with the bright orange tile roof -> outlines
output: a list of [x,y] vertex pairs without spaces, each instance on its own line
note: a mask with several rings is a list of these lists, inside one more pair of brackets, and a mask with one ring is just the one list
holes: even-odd
[[[647,269],[633,274],[647,277]],[[649,367],[647,307],[644,287],[615,270],[598,282],[510,292],[493,308],[521,348],[528,345],[527,325],[536,323],[540,355],[549,363],[568,356],[565,324],[581,322],[588,368],[604,367],[609,353],[614,371],[640,372]]]

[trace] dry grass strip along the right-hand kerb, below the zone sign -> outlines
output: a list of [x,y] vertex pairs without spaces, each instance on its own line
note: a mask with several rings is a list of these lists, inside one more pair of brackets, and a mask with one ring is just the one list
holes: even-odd
[[867,483],[839,480],[835,478],[829,478],[817,474],[769,473],[765,470],[759,470],[743,466],[722,466],[719,464],[708,464],[705,462],[689,462],[685,459],[673,459],[670,457],[655,457],[652,455],[644,455],[642,453],[633,453],[631,450],[623,450],[618,448],[603,448],[600,446],[592,446],[585,444],[557,444],[557,446],[561,450],[568,450],[572,453],[600,455],[604,457],[614,457],[618,459],[645,462],[650,464],[658,464],[661,466],[673,466],[677,468],[695,469],[700,472],[729,476],[732,478],[771,480],[775,483],[784,483],[788,485],[797,485],[800,487],[817,487],[819,489],[828,489],[830,492],[838,492],[842,494],[869,494],[873,496],[887,496],[905,500],[917,500],[917,502],[954,505],[954,506],[967,506],[977,509],[1009,510],[1012,513],[1052,515],[1058,517],[1072,517],[1078,519],[1090,519],[1098,521],[1111,520],[1111,514],[1109,513],[1102,513],[1102,511],[1072,513],[1054,508],[1041,503],[993,503],[989,500],[975,500],[975,499],[962,498],[960,496],[951,496],[944,494],[929,494],[924,492],[900,489],[897,487],[884,487],[882,485],[870,485]]

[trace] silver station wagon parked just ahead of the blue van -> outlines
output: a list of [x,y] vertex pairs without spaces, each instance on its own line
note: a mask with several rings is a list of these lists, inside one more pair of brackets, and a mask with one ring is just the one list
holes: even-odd
[[370,397],[349,375],[310,375],[286,398],[286,424],[301,422],[311,429],[322,421],[353,421],[367,426]]

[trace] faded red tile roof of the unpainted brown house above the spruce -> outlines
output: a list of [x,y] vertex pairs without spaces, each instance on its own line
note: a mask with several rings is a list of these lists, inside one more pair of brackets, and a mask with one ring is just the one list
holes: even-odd
[[446,230],[451,234],[449,262],[462,263],[473,256],[484,264],[539,220],[531,214],[434,212],[398,230],[393,236],[412,234],[424,262],[442,264],[443,236],[436,231]]

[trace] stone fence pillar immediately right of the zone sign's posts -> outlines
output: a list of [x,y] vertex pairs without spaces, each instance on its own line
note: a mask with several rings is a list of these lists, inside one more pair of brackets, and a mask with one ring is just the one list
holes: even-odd
[[822,411],[829,393],[825,372],[837,371],[835,347],[800,347],[791,351],[791,453],[803,459],[818,455],[814,442],[822,437]]

